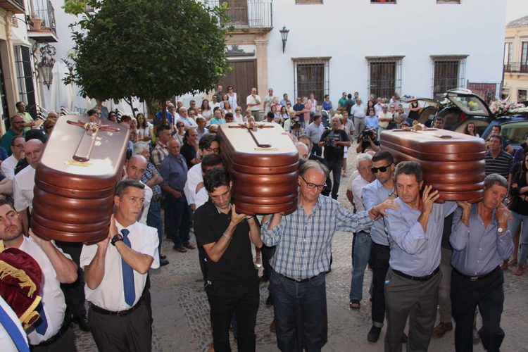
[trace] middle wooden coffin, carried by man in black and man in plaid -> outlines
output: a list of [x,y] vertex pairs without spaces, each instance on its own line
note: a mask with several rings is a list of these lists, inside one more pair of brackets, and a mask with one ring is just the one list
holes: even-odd
[[220,125],[218,136],[239,213],[296,210],[298,151],[280,125],[263,123],[256,131],[250,131],[231,122]]

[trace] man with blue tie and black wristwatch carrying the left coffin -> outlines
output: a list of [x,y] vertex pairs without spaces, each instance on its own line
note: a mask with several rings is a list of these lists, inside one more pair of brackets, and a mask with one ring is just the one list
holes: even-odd
[[108,238],[84,245],[80,265],[88,320],[99,351],[151,351],[150,268],[159,268],[158,232],[137,222],[144,184],[124,180],[115,189]]

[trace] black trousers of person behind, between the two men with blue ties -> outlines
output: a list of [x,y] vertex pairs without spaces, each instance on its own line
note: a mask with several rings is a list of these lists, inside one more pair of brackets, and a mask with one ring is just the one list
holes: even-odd
[[68,311],[73,318],[86,316],[86,308],[84,307],[84,272],[79,265],[82,243],[62,241],[56,241],[55,243],[64,253],[69,254],[75,264],[77,264],[77,280],[71,284],[61,284]]

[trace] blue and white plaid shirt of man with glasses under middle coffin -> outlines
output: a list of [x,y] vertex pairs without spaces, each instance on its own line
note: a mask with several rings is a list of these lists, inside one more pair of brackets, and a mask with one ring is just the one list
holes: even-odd
[[353,214],[338,201],[319,196],[310,215],[299,203],[297,210],[282,217],[269,230],[270,220],[261,228],[266,246],[277,246],[270,260],[272,268],[291,279],[308,279],[328,271],[332,237],[336,231],[358,232],[372,226],[367,211]]

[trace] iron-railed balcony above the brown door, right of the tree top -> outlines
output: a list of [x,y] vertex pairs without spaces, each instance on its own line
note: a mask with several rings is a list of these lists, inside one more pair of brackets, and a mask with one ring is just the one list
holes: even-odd
[[272,0],[205,0],[208,6],[227,4],[227,25],[234,32],[269,32],[273,27]]

